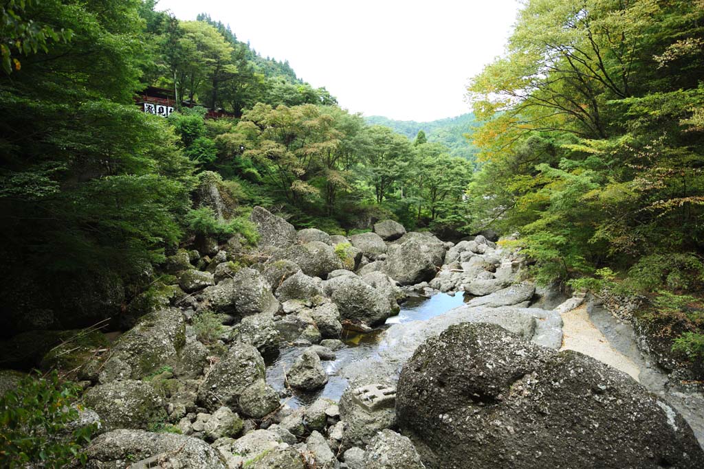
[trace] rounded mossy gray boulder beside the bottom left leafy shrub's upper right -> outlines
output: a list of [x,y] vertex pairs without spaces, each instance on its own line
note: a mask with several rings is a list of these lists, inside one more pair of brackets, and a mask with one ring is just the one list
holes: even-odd
[[98,413],[105,430],[146,429],[166,419],[161,394],[144,381],[113,381],[92,387],[83,394],[83,402]]

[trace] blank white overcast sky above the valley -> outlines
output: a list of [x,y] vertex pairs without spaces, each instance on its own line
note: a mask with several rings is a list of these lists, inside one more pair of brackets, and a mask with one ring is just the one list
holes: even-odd
[[289,60],[341,107],[426,122],[470,111],[465,87],[503,52],[517,0],[161,0],[209,13],[262,56]]

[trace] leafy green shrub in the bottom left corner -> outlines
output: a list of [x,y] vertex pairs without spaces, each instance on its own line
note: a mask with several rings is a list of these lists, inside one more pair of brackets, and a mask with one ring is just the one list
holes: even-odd
[[63,468],[85,463],[81,452],[95,425],[73,429],[78,418],[72,406],[80,387],[62,381],[54,371],[45,378],[27,376],[0,396],[0,467]]

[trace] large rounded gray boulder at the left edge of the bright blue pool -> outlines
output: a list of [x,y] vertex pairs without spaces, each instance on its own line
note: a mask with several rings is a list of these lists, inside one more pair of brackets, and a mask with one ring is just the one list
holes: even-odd
[[356,276],[335,277],[325,282],[325,294],[337,304],[340,317],[370,326],[391,316],[389,298]]

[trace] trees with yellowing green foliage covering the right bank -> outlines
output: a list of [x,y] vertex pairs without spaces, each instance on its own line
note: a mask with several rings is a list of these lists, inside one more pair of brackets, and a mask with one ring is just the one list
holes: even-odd
[[520,232],[542,281],[654,295],[641,314],[691,356],[704,356],[703,46],[701,0],[532,0],[469,90],[479,218]]

